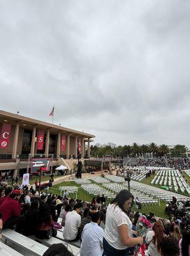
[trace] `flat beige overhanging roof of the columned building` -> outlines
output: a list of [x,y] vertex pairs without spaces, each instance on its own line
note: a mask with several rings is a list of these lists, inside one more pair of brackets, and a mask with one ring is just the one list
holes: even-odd
[[40,127],[42,129],[51,129],[51,131],[55,132],[65,132],[70,135],[75,135],[75,136],[83,136],[86,138],[95,138],[95,135],[93,134],[88,134],[86,132],[81,132],[81,131],[76,131],[73,129],[69,129],[63,126],[55,125],[55,124],[50,124],[47,122],[43,122],[40,120],[36,120],[33,118],[29,118],[26,116],[20,116],[17,114],[13,114],[10,112],[6,112],[0,109],[0,122],[4,122],[4,120],[8,120],[9,122],[20,122],[21,125],[24,127],[33,127],[36,125],[37,127]]

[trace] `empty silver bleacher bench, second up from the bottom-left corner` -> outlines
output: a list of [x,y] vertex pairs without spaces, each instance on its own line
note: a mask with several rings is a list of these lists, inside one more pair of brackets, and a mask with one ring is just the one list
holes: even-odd
[[33,241],[29,237],[23,236],[11,229],[5,229],[2,233],[5,244],[10,245],[17,252],[27,256],[42,256],[47,251],[47,246]]

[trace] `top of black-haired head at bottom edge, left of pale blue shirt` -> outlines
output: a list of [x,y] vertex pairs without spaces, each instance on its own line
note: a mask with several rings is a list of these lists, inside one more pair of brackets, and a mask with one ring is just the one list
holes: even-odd
[[64,244],[52,244],[43,256],[74,256]]

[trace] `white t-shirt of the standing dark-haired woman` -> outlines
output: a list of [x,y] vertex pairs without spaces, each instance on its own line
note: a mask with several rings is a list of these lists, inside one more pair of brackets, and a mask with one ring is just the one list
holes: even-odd
[[128,226],[129,236],[132,236],[132,222],[127,214],[125,214],[118,205],[109,204],[106,211],[106,228],[104,230],[104,238],[117,250],[124,250],[127,248],[127,246],[124,246],[120,241],[118,234],[118,227],[123,224]]

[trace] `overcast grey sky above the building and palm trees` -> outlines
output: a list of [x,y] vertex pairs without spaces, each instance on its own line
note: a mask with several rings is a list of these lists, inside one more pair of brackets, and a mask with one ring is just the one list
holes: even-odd
[[0,0],[0,109],[95,143],[190,145],[189,0]]

